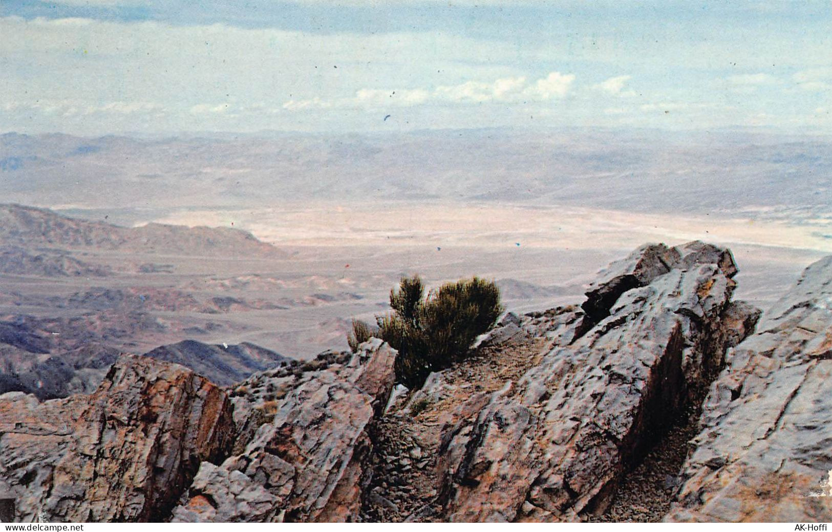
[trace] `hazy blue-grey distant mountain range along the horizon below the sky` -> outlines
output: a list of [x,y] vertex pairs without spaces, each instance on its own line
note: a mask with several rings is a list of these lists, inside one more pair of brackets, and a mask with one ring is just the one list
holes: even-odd
[[[119,223],[310,200],[568,204],[641,212],[832,204],[832,139],[502,129],[384,135],[0,135],[0,197]],[[121,210],[121,212],[118,212]]]

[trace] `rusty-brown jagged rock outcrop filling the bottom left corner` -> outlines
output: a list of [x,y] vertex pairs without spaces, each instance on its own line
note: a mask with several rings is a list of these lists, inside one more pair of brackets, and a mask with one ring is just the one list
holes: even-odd
[[0,484],[20,521],[164,520],[230,451],[228,397],[185,367],[122,356],[89,396],[0,396]]

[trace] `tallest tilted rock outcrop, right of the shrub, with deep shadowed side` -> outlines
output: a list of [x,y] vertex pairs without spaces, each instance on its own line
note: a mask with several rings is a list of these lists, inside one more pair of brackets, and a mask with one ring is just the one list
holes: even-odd
[[730,252],[709,244],[644,246],[602,272],[582,309],[541,320],[538,328],[551,323],[551,350],[518,382],[473,395],[444,431],[444,518],[602,511],[626,468],[753,327],[755,310],[730,301],[736,271]]

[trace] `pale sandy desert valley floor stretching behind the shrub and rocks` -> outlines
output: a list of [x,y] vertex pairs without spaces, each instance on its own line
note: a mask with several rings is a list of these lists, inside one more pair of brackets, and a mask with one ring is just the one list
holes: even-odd
[[[119,221],[118,209],[87,217]],[[698,238],[733,250],[737,297],[765,308],[807,264],[832,251],[814,228],[776,220],[557,207],[323,204],[174,210],[144,221],[246,229],[276,249],[265,257],[235,244],[206,251],[183,242],[178,252],[68,246],[62,253],[107,273],[22,270],[9,262],[0,312],[5,319],[84,315],[101,322],[84,327],[121,329],[110,336],[127,352],[191,338],[251,342],[307,358],[346,347],[351,318],[386,312],[389,289],[405,274],[421,274],[428,286],[474,274],[493,278],[507,307],[527,312],[580,298],[599,268],[639,244]],[[37,255],[45,244],[22,245]],[[154,327],[136,323],[137,313],[151,316]]]

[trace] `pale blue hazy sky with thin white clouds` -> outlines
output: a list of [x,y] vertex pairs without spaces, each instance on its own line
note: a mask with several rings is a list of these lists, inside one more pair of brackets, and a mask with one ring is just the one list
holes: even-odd
[[830,111],[832,0],[0,0],[0,131],[832,132]]

